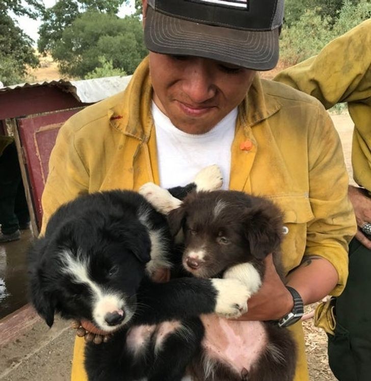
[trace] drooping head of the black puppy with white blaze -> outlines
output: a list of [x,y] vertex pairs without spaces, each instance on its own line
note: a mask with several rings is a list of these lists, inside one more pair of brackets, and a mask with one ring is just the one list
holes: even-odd
[[150,250],[147,229],[137,219],[76,216],[30,250],[32,303],[49,326],[60,313],[115,331],[136,312]]

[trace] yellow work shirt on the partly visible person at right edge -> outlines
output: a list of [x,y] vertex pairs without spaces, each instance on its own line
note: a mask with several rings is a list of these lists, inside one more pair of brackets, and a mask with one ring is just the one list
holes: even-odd
[[276,81],[319,99],[326,108],[348,102],[355,124],[354,180],[371,191],[371,19],[326,45],[319,55],[281,71]]

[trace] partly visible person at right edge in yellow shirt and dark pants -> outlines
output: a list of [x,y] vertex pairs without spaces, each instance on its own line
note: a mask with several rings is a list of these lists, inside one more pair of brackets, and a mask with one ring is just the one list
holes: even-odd
[[326,108],[348,102],[355,124],[352,164],[360,187],[350,185],[349,198],[358,230],[350,243],[349,279],[336,300],[336,326],[328,350],[336,378],[366,381],[371,375],[371,19],[275,80],[313,95]]

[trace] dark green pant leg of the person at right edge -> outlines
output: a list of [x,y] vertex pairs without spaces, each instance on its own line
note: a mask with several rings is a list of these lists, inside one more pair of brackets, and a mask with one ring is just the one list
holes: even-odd
[[349,248],[349,278],[336,300],[329,364],[340,381],[371,380],[371,251],[357,239]]

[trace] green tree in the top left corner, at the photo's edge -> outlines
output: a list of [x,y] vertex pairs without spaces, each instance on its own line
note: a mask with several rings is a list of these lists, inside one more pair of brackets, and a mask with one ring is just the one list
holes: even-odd
[[37,18],[43,12],[41,1],[5,0],[0,2],[0,81],[5,85],[22,82],[29,66],[39,63],[32,46],[33,40],[26,35],[9,16],[28,15]]

